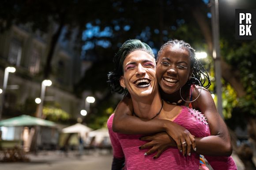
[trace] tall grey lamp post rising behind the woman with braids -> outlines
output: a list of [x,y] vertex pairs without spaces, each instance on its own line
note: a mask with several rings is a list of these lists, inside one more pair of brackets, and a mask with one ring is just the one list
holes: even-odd
[[215,82],[216,82],[216,93],[217,93],[217,109],[218,113],[223,118],[222,114],[222,83],[221,83],[221,58],[219,48],[219,20],[218,20],[218,0],[211,0],[211,27],[213,37],[213,50],[212,56],[215,63]]

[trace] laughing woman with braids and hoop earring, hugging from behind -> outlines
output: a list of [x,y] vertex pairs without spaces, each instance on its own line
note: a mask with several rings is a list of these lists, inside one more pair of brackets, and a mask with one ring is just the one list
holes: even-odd
[[153,158],[158,158],[166,149],[176,145],[183,155],[190,156],[192,152],[204,155],[216,170],[237,169],[230,156],[232,145],[228,129],[218,114],[211,93],[206,90],[211,81],[207,71],[196,59],[195,50],[190,44],[171,40],[162,45],[157,57],[156,78],[164,101],[202,112],[203,115],[191,113],[197,122],[183,119],[183,123],[187,125],[183,127],[188,129],[193,126],[194,130],[200,130],[197,129],[196,123],[201,122],[209,126],[210,134],[207,137],[195,137],[193,140],[189,133],[179,130],[173,122],[136,117],[129,96],[124,97],[116,108],[113,131],[125,134],[151,134],[140,139],[148,141],[139,147],[140,150],[150,148],[145,152],[146,156],[154,153]]

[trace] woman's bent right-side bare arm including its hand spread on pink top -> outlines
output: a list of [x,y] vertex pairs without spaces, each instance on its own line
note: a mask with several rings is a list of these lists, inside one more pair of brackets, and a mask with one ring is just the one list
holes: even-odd
[[[198,96],[198,91],[196,90],[193,95]],[[198,100],[193,103],[193,107],[202,111],[202,113],[207,117],[207,122],[209,123],[211,131],[211,136],[195,137],[196,152],[209,156],[230,156],[232,153],[230,135],[225,122],[216,110],[215,103],[210,92],[202,89],[201,95]],[[141,146],[141,149],[151,148],[147,151],[147,155],[158,151],[154,156],[155,158],[161,155],[166,148],[175,146],[175,142],[173,142],[166,133],[158,133],[143,137],[142,140],[149,141],[147,144]]]

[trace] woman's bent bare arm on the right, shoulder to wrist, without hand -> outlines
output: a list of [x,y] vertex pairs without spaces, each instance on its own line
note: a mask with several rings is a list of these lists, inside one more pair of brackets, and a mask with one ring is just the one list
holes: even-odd
[[225,122],[218,114],[210,92],[202,89],[201,95],[193,103],[193,107],[206,116],[211,131],[211,136],[195,138],[196,152],[202,155],[230,156],[232,154],[230,134]]

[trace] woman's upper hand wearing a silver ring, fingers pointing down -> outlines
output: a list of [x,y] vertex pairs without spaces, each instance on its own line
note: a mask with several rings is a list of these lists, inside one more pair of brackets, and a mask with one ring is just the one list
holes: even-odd
[[166,133],[168,133],[169,136],[172,137],[173,140],[176,142],[177,148],[180,152],[183,153],[183,155],[190,155],[191,147],[194,151],[196,151],[196,140],[187,129],[174,122],[166,124],[165,129]]

